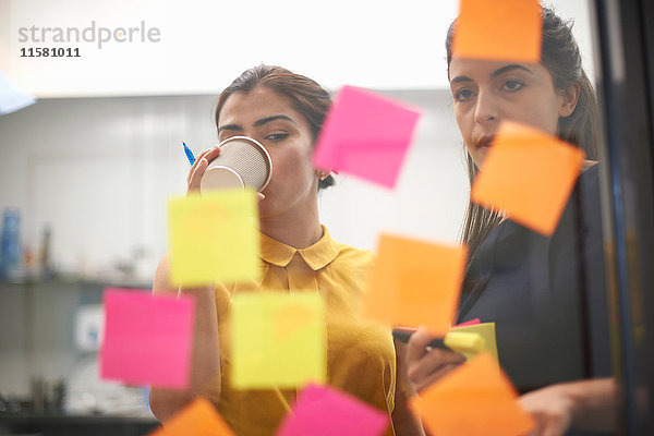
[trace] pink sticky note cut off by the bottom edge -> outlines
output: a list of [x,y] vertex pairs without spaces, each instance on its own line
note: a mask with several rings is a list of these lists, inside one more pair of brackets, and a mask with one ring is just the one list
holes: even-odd
[[334,388],[307,385],[277,436],[379,436],[389,425],[384,412]]

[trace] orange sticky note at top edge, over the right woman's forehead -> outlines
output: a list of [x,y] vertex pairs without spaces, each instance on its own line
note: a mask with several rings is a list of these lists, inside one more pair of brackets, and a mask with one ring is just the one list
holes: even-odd
[[541,13],[538,0],[461,0],[453,56],[540,62]]

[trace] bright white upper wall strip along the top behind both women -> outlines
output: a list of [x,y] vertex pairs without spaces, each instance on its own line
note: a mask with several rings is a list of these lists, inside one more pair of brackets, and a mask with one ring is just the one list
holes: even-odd
[[[576,19],[592,60],[588,0],[545,0]],[[0,70],[38,97],[217,94],[245,69],[281,64],[324,86],[448,86],[446,31],[459,0],[0,0]],[[20,41],[32,26],[157,28],[156,43]],[[48,40],[52,39],[52,31]],[[90,33],[89,33],[90,35]],[[136,34],[138,36],[138,34]],[[29,38],[31,39],[31,38]],[[37,39],[40,39],[37,34]],[[22,48],[80,49],[78,59],[22,58]],[[588,65],[592,70],[592,65]],[[592,71],[590,71],[592,73]]]

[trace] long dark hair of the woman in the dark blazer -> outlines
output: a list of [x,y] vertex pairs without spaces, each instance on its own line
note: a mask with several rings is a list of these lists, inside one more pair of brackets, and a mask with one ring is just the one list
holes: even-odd
[[[586,158],[597,159],[597,138],[600,126],[600,111],[597,97],[591,81],[581,65],[579,46],[572,36],[572,21],[564,21],[548,8],[542,8],[543,15],[543,45],[541,48],[541,63],[552,75],[555,89],[566,89],[579,84],[580,93],[577,106],[572,113],[559,118],[557,136],[570,144],[582,148]],[[447,50],[447,65],[452,60],[452,38],[456,21],[450,25],[445,40]],[[470,185],[474,182],[479,168],[467,153],[468,177]],[[462,241],[468,245],[468,266],[476,256],[480,246],[491,231],[501,221],[501,216],[469,202],[463,223]]]

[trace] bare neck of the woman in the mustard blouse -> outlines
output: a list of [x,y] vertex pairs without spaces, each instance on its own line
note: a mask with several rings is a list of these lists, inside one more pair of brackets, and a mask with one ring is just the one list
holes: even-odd
[[302,210],[289,209],[281,215],[262,217],[262,233],[293,249],[306,249],[323,238],[317,202]]

